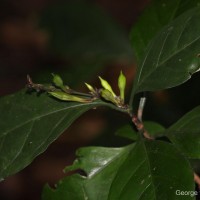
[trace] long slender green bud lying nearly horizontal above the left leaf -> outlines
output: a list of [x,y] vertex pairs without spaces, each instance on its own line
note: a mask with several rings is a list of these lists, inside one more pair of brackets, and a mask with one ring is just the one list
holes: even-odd
[[90,99],[83,99],[71,94],[67,94],[62,91],[49,92],[49,94],[62,101],[76,101],[76,102],[81,102],[81,103],[90,102]]

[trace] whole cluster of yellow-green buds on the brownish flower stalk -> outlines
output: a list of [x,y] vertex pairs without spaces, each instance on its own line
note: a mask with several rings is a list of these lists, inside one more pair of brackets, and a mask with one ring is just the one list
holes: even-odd
[[90,93],[80,93],[72,90],[69,88],[69,86],[64,85],[62,78],[57,74],[53,75],[53,86],[45,87],[41,84],[35,84],[32,82],[31,78],[27,76],[28,78],[28,88],[35,89],[37,92],[46,91],[51,96],[62,100],[62,101],[75,101],[75,102],[81,102],[81,103],[88,103],[92,102],[96,99],[104,99],[106,101],[109,101],[113,104],[115,104],[117,107],[125,107],[124,104],[124,96],[125,96],[125,87],[126,87],[126,77],[120,72],[119,78],[118,78],[118,87],[120,95],[117,96],[114,92],[110,84],[101,78],[99,76],[101,85],[103,88],[96,89],[93,86],[91,86],[88,83],[85,83],[87,88],[89,89]]

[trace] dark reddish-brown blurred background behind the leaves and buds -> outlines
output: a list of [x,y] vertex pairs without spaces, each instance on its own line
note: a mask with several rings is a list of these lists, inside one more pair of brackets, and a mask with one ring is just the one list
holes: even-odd
[[[85,60],[77,62],[82,59],[78,56],[74,57],[74,55],[68,54],[63,56],[60,52],[51,51],[48,46],[50,36],[38,24],[41,12],[50,4],[56,5],[58,2],[61,1],[0,1],[0,96],[24,88],[27,74],[33,76],[37,81],[44,82],[50,80],[50,74],[55,71],[58,73],[68,72],[64,77],[68,77],[76,89],[84,91],[82,82],[92,82],[94,85],[98,85],[97,76],[99,74],[109,80],[113,86],[116,85],[118,74],[122,69],[127,76],[127,91],[129,91],[135,73],[134,57],[132,59],[106,58],[103,60],[103,65],[102,60],[100,63],[94,62],[99,59],[99,57],[94,57],[92,62],[85,64]],[[87,2],[99,6],[123,29],[125,37],[128,39],[131,26],[134,25],[137,17],[150,1],[88,0]],[[73,68],[75,65],[81,64],[87,67]],[[98,64],[103,67],[97,67],[93,75],[86,76]],[[74,72],[76,70],[77,72]],[[80,75],[83,75],[82,82]],[[199,75],[194,75],[188,83],[181,87],[148,94],[145,118],[157,120],[164,126],[175,122],[182,114],[199,104],[200,95],[196,92],[199,80]],[[125,116],[121,116],[115,111],[108,112],[104,109],[92,110],[84,114],[30,166],[0,183],[0,199],[40,199],[43,185],[48,182],[53,186],[64,176],[62,170],[73,162],[75,150],[78,147],[90,144],[104,146],[125,144],[127,141],[116,138],[111,133],[127,120]]]

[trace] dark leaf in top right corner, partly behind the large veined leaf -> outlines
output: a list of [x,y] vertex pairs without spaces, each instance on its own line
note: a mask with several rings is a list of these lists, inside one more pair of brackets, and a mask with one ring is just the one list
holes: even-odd
[[199,3],[200,0],[152,0],[130,33],[137,60],[142,59],[149,42],[165,25]]

